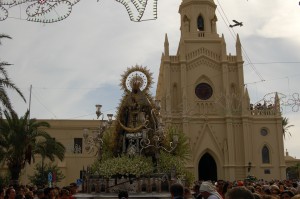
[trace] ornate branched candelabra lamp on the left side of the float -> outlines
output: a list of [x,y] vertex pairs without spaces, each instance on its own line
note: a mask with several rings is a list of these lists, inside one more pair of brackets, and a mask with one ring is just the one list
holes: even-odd
[[101,123],[98,127],[98,129],[93,130],[92,134],[90,134],[89,129],[85,128],[83,129],[83,139],[85,143],[85,150],[88,153],[93,153],[96,149],[96,154],[98,155],[98,160],[101,160],[101,149],[103,145],[103,133],[106,131],[107,128],[110,127],[112,124],[112,117],[113,114],[107,114],[107,121],[104,121],[104,114],[101,112],[102,105],[96,104],[96,115],[97,119],[102,115]]

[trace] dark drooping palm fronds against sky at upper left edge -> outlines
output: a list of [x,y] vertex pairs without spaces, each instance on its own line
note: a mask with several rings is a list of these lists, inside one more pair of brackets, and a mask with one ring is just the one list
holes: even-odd
[[[1,39],[2,38],[8,38],[11,39],[10,36],[0,34],[0,45],[1,45]],[[24,101],[25,97],[23,96],[22,92],[19,88],[16,87],[16,85],[9,79],[7,71],[5,69],[6,66],[9,66],[11,64],[1,61],[0,60],[0,105],[2,104],[5,108],[7,108],[9,111],[12,111],[12,104],[10,102],[10,99],[7,95],[6,88],[12,89],[16,91]],[[0,106],[0,115],[2,114],[1,106]]]

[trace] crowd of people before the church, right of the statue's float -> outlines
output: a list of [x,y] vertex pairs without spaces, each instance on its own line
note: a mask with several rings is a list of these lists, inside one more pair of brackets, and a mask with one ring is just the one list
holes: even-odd
[[192,190],[180,184],[170,188],[172,199],[300,199],[298,181],[203,181]]

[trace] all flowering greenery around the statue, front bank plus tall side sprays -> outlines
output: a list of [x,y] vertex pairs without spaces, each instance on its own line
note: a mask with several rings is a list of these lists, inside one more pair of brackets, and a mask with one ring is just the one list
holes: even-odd
[[[112,176],[129,176],[134,175],[136,177],[149,176],[154,171],[159,171],[160,173],[168,173],[175,171],[177,176],[181,176],[187,183],[192,183],[194,176],[191,172],[187,171],[185,168],[185,163],[189,160],[190,156],[190,146],[188,145],[188,140],[182,131],[174,127],[170,127],[166,132],[166,141],[164,147],[169,149],[169,143],[172,141],[174,135],[178,137],[178,144],[171,153],[160,150],[160,156],[156,166],[153,163],[151,157],[145,156],[135,156],[129,157],[127,155],[122,155],[119,157],[113,156],[113,141],[115,137],[113,136],[112,130],[108,130],[103,135],[103,147],[102,147],[102,160],[95,161],[91,165],[91,172],[94,175],[100,175],[105,178],[111,178]],[[153,150],[156,150],[153,148]]]

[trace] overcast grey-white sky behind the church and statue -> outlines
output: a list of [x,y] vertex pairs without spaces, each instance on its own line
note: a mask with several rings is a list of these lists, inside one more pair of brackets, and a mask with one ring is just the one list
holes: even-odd
[[[20,116],[25,113],[32,85],[31,117],[95,119],[95,104],[102,104],[105,114],[115,113],[122,96],[120,76],[135,64],[153,72],[154,95],[166,33],[170,54],[177,51],[180,3],[159,0],[157,20],[143,22],[130,21],[125,7],[114,0],[81,0],[68,18],[51,24],[24,20],[29,3],[10,8],[9,18],[0,22],[0,33],[13,39],[2,40],[0,59],[13,64],[9,75],[27,98],[24,103],[11,94],[14,108]],[[251,102],[274,92],[289,102],[282,106],[283,116],[295,126],[285,138],[285,149],[300,158],[299,1],[215,3],[218,33],[224,34],[228,53],[235,54],[235,35],[240,35]],[[244,26],[230,29],[232,19]]]

